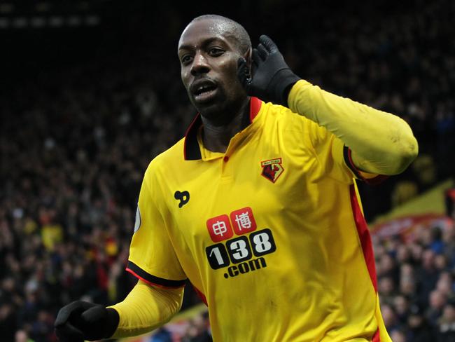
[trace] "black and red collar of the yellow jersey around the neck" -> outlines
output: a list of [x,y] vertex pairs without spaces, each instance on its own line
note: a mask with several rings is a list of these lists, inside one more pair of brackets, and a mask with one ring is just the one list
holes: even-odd
[[[258,115],[261,107],[261,100],[258,97],[251,97],[250,100],[250,112],[249,112],[249,124],[253,123],[254,118]],[[200,114],[197,114],[193,122],[186,130],[185,143],[183,144],[183,157],[185,160],[200,160],[202,159],[200,145],[197,142],[198,130],[202,125],[202,118]]]

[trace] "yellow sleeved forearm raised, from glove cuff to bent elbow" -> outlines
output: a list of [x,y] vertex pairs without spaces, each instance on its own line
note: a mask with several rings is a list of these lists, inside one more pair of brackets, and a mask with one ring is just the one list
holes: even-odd
[[351,149],[362,171],[396,175],[418,153],[411,128],[398,116],[328,93],[298,81],[288,95],[289,108],[323,126]]

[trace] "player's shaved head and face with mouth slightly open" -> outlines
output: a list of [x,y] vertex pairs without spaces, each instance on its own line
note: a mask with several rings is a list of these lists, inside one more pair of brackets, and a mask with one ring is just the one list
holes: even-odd
[[221,15],[201,15],[183,29],[177,55],[183,85],[205,125],[244,117],[249,98],[237,77],[239,59],[251,60],[244,27]]

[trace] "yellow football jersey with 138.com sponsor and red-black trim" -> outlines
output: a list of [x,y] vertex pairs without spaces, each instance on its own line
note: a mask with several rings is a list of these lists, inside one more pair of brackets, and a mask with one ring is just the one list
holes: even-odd
[[162,287],[188,278],[214,341],[390,341],[349,150],[254,97],[249,119],[214,153],[198,116],[152,160],[127,270]]

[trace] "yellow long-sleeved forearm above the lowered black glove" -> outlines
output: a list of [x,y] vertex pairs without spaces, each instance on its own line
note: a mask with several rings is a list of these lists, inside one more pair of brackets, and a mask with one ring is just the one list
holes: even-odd
[[181,308],[183,288],[158,289],[139,280],[124,301],[115,309],[120,322],[112,338],[145,334],[169,322]]

